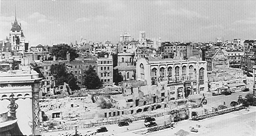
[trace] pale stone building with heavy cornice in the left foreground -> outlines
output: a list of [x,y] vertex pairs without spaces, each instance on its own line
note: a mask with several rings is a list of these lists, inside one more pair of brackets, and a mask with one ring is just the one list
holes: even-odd
[[7,107],[11,94],[17,103],[17,124],[24,135],[31,135],[41,130],[39,122],[39,99],[41,78],[29,66],[19,70],[0,72],[0,105]]

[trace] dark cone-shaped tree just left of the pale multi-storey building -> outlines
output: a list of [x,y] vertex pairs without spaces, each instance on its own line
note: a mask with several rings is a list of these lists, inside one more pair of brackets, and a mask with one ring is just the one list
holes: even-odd
[[87,89],[96,89],[101,87],[101,81],[97,73],[94,72],[93,67],[91,65],[84,72],[84,86]]

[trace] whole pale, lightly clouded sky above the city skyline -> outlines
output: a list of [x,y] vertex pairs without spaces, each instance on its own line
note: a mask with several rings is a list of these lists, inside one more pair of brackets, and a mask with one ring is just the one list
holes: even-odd
[[16,17],[26,41],[118,43],[120,31],[161,41],[256,39],[256,0],[0,0],[0,39]]

